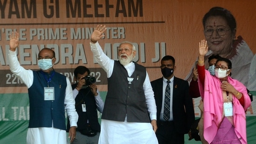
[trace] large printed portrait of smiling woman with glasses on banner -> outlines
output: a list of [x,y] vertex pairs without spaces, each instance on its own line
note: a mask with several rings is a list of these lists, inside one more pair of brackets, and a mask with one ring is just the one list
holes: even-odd
[[[235,17],[225,8],[213,7],[204,15],[202,22],[209,47],[205,60],[213,54],[228,58],[233,65],[231,77],[250,91],[256,91],[256,56],[242,36],[236,37]],[[205,64],[208,69],[208,62]],[[187,81],[193,76],[192,70],[186,77]]]

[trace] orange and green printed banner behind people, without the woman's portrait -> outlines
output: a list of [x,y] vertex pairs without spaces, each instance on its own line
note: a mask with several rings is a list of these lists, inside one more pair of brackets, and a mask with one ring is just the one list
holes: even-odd
[[[235,16],[236,38],[241,35],[255,55],[253,0],[0,0],[0,144],[24,144],[29,120],[27,87],[8,66],[11,32],[20,34],[17,55],[22,67],[39,69],[39,51],[52,48],[57,72],[74,83],[74,69],[86,66],[105,97],[106,73],[90,51],[90,35],[97,25],[107,27],[99,44],[111,59],[118,59],[121,41],[131,41],[137,51],[134,61],[146,67],[151,81],[162,76],[159,66],[165,55],[175,58],[174,75],[187,80],[198,56],[198,43],[205,39],[202,18],[216,6]],[[251,66],[256,71],[255,67]],[[251,88],[254,101],[246,113],[250,120],[256,116],[256,87]],[[194,99],[196,117],[200,117],[199,103],[200,98]],[[256,134],[255,128],[256,123],[247,128],[250,144],[256,142],[250,138]],[[21,141],[13,139],[14,135]]]

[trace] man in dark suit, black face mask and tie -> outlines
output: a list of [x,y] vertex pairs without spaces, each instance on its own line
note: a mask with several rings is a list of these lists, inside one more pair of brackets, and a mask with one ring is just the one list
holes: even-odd
[[160,68],[163,77],[151,82],[157,105],[156,136],[159,144],[184,144],[184,134],[194,121],[188,82],[174,76],[173,56],[164,56]]

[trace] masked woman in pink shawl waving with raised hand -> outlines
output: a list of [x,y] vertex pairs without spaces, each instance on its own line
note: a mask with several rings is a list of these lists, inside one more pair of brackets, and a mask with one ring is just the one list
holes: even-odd
[[204,105],[204,138],[209,144],[247,144],[245,111],[251,101],[246,87],[230,77],[232,64],[220,58],[215,75],[204,68],[207,41],[199,43],[199,89]]

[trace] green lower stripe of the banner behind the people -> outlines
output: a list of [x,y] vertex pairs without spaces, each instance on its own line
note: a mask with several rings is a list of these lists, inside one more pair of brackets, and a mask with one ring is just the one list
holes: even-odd
[[[103,100],[106,94],[107,92],[100,92]],[[255,91],[253,95],[255,96]],[[28,109],[27,93],[0,94],[0,144],[26,144]],[[101,122],[100,118],[98,120]],[[248,144],[256,144],[256,116],[246,117],[246,125]],[[186,134],[185,144],[201,144],[201,141],[189,141]]]

